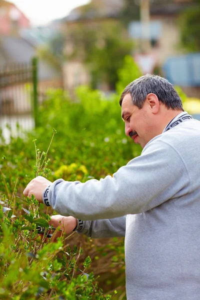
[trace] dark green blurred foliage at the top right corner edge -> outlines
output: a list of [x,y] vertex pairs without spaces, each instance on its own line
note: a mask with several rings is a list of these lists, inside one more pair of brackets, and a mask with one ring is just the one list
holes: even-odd
[[181,43],[188,51],[200,51],[200,1],[180,14]]

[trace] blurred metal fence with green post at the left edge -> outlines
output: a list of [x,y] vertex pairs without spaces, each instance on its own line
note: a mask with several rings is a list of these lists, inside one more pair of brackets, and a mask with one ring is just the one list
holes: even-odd
[[5,139],[38,123],[37,59],[0,68],[0,127]]

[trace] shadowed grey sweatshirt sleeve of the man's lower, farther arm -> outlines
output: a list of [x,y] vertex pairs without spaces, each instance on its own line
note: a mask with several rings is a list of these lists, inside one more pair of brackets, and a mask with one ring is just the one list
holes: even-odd
[[74,231],[92,238],[125,236],[125,220],[125,215],[94,221],[82,221],[78,219],[77,227]]

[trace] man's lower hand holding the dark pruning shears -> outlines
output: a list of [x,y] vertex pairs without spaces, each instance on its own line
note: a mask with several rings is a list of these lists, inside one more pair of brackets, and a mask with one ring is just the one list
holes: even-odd
[[[48,221],[48,223],[49,225],[53,225],[53,227],[55,228],[59,227],[64,231],[65,234],[69,234],[76,227],[77,219],[73,216],[63,216],[60,214],[56,214],[51,216],[51,219]],[[57,230],[53,234],[52,240],[62,235],[63,231]]]

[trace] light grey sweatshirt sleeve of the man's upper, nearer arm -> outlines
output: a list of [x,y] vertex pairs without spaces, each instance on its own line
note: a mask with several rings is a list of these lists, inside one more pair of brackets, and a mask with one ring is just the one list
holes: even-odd
[[169,144],[149,142],[138,157],[113,176],[84,183],[57,179],[43,192],[43,201],[62,215],[98,220],[136,214],[179,197],[189,177],[179,153]]

